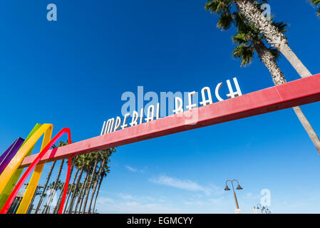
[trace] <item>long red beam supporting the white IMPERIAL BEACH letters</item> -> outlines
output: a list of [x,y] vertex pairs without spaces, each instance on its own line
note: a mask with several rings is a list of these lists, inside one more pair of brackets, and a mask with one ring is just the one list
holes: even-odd
[[[316,101],[320,101],[320,74],[186,111],[182,117],[179,117],[179,114],[170,115],[149,123],[142,123],[113,133],[58,147],[56,150],[48,151],[41,162],[61,160],[70,156],[83,155],[88,152],[270,113]],[[191,113],[193,117],[196,117],[197,123],[188,125],[187,122],[190,120],[188,114]],[[25,157],[21,167],[29,166],[36,156]]]

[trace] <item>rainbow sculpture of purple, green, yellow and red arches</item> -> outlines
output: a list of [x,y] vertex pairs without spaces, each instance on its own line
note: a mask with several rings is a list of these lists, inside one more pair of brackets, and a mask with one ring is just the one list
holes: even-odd
[[[29,185],[24,193],[24,197],[19,205],[17,214],[25,214],[29,208],[34,192],[41,177],[44,163],[38,164],[43,155],[48,152],[52,145],[59,139],[64,133],[68,134],[68,143],[71,144],[71,132],[69,128],[63,128],[53,139],[51,140],[53,125],[51,124],[36,124],[31,130],[31,133],[23,140],[18,138],[0,157],[0,214],[6,214],[9,210],[11,203],[14,201],[17,193],[21,186],[29,177],[32,170],[33,174]],[[19,168],[24,157],[31,155],[34,145],[43,135],[43,141],[41,145],[41,152],[37,155],[36,159],[33,160],[29,165],[24,175],[19,180],[23,168]],[[54,151],[53,151],[54,152]],[[66,176],[66,184],[63,190],[63,196],[61,205],[59,208],[59,214],[63,212],[63,205],[66,200],[66,193],[68,191],[68,183],[71,174],[71,157],[68,158],[68,172]],[[19,180],[19,181],[18,181]]]

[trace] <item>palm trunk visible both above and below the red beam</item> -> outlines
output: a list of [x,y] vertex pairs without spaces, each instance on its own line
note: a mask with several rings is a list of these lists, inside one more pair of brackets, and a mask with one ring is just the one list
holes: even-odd
[[[266,66],[269,72],[271,73],[274,84],[277,86],[282,83],[286,83],[286,79],[284,78],[284,74],[282,73],[277,64],[276,58],[274,58],[271,51],[269,51],[269,49],[264,45],[264,43],[262,41],[256,41],[254,42],[254,48],[257,51],[260,60],[262,61],[262,63],[264,63],[264,66]],[[309,123],[309,120],[306,118],[299,106],[294,107],[294,112],[299,118],[301,124],[304,126],[304,129],[306,130],[306,133],[308,133],[311,141],[314,142],[316,150],[318,150],[320,154],[320,140],[318,135],[316,135],[314,128],[312,128],[311,124]]]

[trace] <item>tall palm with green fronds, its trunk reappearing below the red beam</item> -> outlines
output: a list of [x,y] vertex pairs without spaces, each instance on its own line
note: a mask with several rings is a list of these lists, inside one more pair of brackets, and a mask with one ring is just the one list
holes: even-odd
[[[240,0],[208,0],[205,6],[205,9],[208,11],[220,15],[220,19],[217,23],[217,26],[222,28],[223,30],[229,29],[232,24],[237,26],[238,32],[233,37],[233,40],[239,44],[236,48],[234,48],[233,55],[237,58],[242,59],[242,65],[247,65],[251,62],[251,59],[254,56],[254,51],[258,53],[258,56],[264,66],[266,66],[269,72],[272,74],[273,81],[276,85],[281,83],[285,83],[285,78],[280,70],[279,66],[277,65],[277,57],[279,56],[280,48],[267,48],[263,41],[269,41],[269,36],[266,33],[263,33],[261,29],[259,29],[256,24],[250,21],[247,18],[247,15],[244,14],[243,11],[239,11],[239,1]],[[244,1],[246,7],[254,6],[254,9],[259,11],[259,16],[261,16],[262,11],[259,10],[259,4],[257,1],[249,1],[249,0],[241,0]],[[267,2],[263,1],[262,2]],[[236,4],[236,10],[233,11],[232,8],[233,4]],[[251,7],[252,8],[252,7]],[[257,14],[255,14],[257,15]],[[248,20],[247,20],[248,19]],[[264,19],[264,21],[267,21]],[[268,21],[269,26],[277,30],[277,33],[282,34],[279,35],[281,37],[284,36],[285,26],[284,23],[275,23],[272,20]],[[287,47],[289,47],[287,45]],[[311,74],[310,74],[311,75]],[[312,128],[309,121],[306,119],[304,113],[302,112],[301,108],[295,107],[294,112],[298,116],[301,124],[304,126],[304,129],[308,133],[309,137],[311,138],[312,142],[316,146],[320,154],[320,140],[316,132]]]

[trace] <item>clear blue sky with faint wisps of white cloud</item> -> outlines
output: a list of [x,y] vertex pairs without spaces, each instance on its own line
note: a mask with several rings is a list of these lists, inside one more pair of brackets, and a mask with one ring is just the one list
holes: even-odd
[[[50,3],[58,6],[56,22],[46,20]],[[314,9],[305,0],[270,4],[289,23],[291,48],[320,73]],[[71,128],[74,141],[99,135],[104,120],[120,115],[122,93],[137,86],[200,91],[234,76],[243,93],[272,86],[257,57],[247,68],[232,58],[234,30],[217,29],[203,6],[1,1],[0,151],[36,123],[53,123],[54,133]],[[279,66],[288,81],[299,78],[285,58]],[[320,133],[319,103],[302,108]],[[229,178],[244,187],[237,192],[242,212],[252,213],[262,189],[271,191],[272,212],[320,212],[320,157],[291,109],[118,147],[110,167],[98,212],[233,213],[232,192],[223,191]]]

